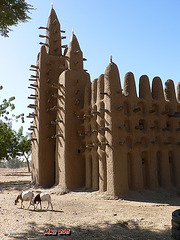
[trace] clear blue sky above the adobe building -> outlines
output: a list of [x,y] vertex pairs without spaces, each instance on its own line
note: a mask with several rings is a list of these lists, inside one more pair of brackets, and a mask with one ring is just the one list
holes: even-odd
[[[0,36],[0,92],[3,98],[15,96],[16,113],[28,115],[29,68],[40,50],[38,30],[46,26],[49,0],[27,0],[32,4],[32,20],[13,27],[9,38]],[[104,73],[110,55],[118,65],[121,84],[126,72],[133,72],[138,86],[141,75],[180,81],[180,0],[54,0],[62,30],[69,44],[72,29],[79,40],[85,69],[91,80]],[[21,124],[14,124],[19,128]],[[29,121],[24,124],[25,132]]]

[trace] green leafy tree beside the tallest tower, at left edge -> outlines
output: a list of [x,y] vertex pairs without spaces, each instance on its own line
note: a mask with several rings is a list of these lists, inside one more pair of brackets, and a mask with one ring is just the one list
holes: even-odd
[[[1,89],[2,86],[0,86]],[[14,99],[15,97],[4,99],[0,104],[0,162],[24,157],[30,172],[31,142],[29,135],[23,135],[23,127],[18,132],[12,129],[12,121],[21,119],[24,122],[24,114],[18,116],[10,114],[15,109]]]

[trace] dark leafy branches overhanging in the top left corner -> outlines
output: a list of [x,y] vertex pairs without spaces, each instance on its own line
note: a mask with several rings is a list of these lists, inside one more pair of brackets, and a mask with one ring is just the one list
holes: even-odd
[[8,37],[12,26],[20,22],[27,22],[31,18],[29,13],[33,6],[25,0],[0,0],[0,34]]

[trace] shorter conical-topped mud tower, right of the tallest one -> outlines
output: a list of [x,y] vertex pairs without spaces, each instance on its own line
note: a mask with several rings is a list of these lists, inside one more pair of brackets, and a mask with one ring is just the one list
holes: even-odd
[[74,32],[66,57],[68,70],[59,77],[56,182],[74,189],[85,184],[85,156],[80,146],[84,92],[90,85],[90,76],[83,69],[85,59]]

